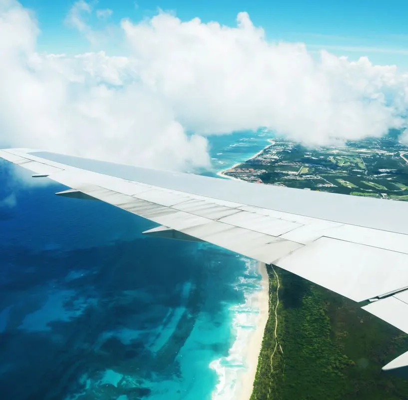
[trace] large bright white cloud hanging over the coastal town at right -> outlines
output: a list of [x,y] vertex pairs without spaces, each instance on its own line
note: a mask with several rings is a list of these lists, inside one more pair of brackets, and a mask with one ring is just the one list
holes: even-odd
[[[367,58],[301,43],[272,43],[247,13],[237,27],[161,13],[122,21],[143,82],[172,104],[187,129],[228,132],[267,126],[308,144],[384,134],[398,125],[407,77]],[[389,94],[393,104],[385,99]]]

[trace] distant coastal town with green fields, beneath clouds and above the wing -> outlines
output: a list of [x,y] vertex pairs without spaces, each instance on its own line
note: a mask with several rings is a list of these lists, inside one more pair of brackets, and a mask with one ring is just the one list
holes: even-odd
[[408,200],[408,145],[393,132],[310,149],[286,138],[222,175],[248,182]]

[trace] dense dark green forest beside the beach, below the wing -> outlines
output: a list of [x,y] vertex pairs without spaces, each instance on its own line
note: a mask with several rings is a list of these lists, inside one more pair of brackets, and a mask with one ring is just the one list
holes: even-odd
[[358,304],[275,267],[280,279],[275,349],[276,278],[270,267],[270,317],[251,400],[401,400],[408,381],[381,368],[408,348],[407,335]]

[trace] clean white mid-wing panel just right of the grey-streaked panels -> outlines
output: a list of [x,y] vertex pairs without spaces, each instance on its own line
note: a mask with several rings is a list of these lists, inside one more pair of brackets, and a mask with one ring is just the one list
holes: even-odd
[[279,236],[301,226],[295,222],[265,217],[247,211],[221,218],[220,221],[271,236]]

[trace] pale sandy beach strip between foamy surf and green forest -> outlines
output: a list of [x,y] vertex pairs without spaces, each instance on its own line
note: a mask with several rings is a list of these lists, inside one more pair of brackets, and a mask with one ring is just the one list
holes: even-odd
[[264,337],[265,326],[269,315],[269,279],[265,263],[258,262],[258,271],[262,275],[262,290],[257,294],[259,315],[257,328],[251,334],[248,345],[245,349],[248,370],[240,377],[241,387],[238,389],[236,400],[249,400],[254,387],[255,374],[258,367],[258,358],[261,352],[262,339]]

